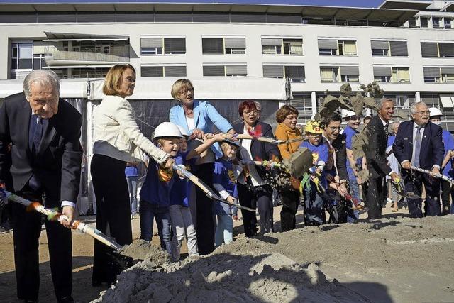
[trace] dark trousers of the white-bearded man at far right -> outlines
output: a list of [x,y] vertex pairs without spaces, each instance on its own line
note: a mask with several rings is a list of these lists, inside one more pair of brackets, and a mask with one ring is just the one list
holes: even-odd
[[[440,181],[433,178],[429,180],[428,175],[421,172],[411,172],[404,175],[405,192],[414,192],[421,197],[422,188],[426,189],[426,216],[440,216]],[[423,211],[421,209],[422,199],[406,199],[409,206],[411,218],[422,218]]]

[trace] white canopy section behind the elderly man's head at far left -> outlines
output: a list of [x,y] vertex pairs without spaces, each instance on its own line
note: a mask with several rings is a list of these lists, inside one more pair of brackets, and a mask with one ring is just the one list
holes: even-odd
[[[0,98],[22,92],[22,87],[22,79],[0,80]],[[87,98],[87,79],[62,79],[60,97]]]

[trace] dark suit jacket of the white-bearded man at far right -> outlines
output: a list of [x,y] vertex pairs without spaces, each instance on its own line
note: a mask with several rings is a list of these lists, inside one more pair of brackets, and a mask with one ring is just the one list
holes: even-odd
[[[396,140],[392,145],[392,150],[399,163],[404,160],[411,162],[413,155],[413,121],[400,123],[396,134]],[[443,145],[443,130],[440,126],[428,122],[423,131],[421,149],[419,151],[419,166],[425,170],[431,170],[433,165],[443,162],[445,148]]]

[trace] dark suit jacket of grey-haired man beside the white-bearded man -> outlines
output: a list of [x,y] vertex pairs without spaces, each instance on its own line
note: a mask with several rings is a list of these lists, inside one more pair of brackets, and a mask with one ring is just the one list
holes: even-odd
[[388,142],[382,119],[379,116],[373,116],[364,131],[369,139],[369,145],[365,148],[367,170],[374,178],[384,177],[392,170],[386,160]]

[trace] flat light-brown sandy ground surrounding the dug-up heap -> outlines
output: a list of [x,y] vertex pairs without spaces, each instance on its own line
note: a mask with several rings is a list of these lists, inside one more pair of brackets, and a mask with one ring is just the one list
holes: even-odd
[[[253,255],[281,254],[302,270],[314,263],[329,281],[340,282],[362,298],[361,301],[454,302],[454,216],[409,219],[405,217],[404,209],[397,214],[390,214],[389,210],[388,205],[384,209],[385,218],[377,221],[320,227],[303,227],[300,210],[296,230],[271,233],[253,240],[243,237],[240,221],[234,228],[236,241],[215,253],[238,254],[248,250]],[[94,221],[93,217],[83,219]],[[279,207],[275,208],[275,221],[279,230]],[[138,238],[139,232],[136,217],[133,219],[134,238]],[[72,239],[73,297],[76,302],[89,302],[97,299],[99,292],[107,287],[91,286],[92,238],[73,231]],[[157,237],[153,237],[153,243],[157,245]],[[0,301],[17,302],[12,233],[0,234],[0,261]],[[55,302],[48,261],[43,231],[40,237],[40,302]],[[238,292],[238,295],[243,294]],[[276,302],[272,298],[256,299]],[[292,297],[292,302],[302,299]],[[350,301],[358,302],[354,297]]]

